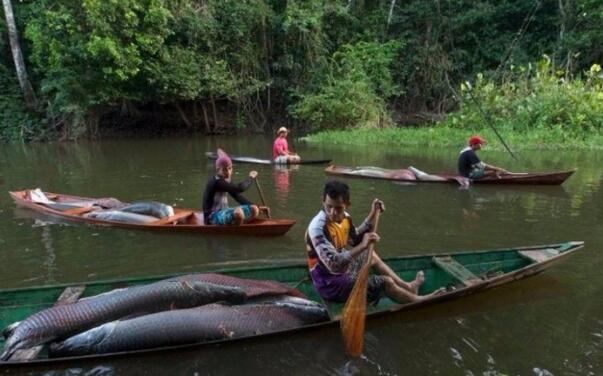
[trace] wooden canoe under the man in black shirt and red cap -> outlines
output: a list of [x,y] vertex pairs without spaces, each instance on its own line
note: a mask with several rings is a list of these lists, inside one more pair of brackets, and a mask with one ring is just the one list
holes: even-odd
[[471,184],[523,184],[523,185],[560,185],[567,180],[576,170],[557,172],[526,172],[512,175],[501,175],[497,177],[485,177],[477,180],[466,179],[452,173],[428,174],[429,179],[407,178],[402,171],[388,170],[376,167],[343,167],[330,165],[325,169],[327,175],[345,176],[363,179],[382,179],[408,183],[452,183],[463,184],[462,181],[470,181]]

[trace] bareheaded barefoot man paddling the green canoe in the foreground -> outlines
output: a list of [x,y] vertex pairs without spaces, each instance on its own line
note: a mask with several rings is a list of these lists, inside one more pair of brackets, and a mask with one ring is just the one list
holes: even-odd
[[[359,227],[354,227],[346,212],[350,205],[347,184],[332,180],[325,184],[322,210],[312,219],[306,232],[308,267],[314,288],[328,301],[345,302],[352,291],[358,273],[368,254],[370,243],[378,242],[379,235],[372,232],[378,210],[383,210],[383,202],[375,199],[369,215]],[[418,295],[425,281],[422,271],[412,282],[403,281],[373,251],[371,267],[377,273],[369,278],[367,300],[376,302],[387,296],[396,302],[424,299],[430,295]]]

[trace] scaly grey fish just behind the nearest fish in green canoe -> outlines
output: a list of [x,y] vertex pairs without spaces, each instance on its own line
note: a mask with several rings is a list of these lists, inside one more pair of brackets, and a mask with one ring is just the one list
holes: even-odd
[[9,359],[16,350],[64,339],[123,317],[219,301],[241,303],[246,297],[239,287],[188,280],[164,280],[101,294],[29,316],[7,339],[0,359]]

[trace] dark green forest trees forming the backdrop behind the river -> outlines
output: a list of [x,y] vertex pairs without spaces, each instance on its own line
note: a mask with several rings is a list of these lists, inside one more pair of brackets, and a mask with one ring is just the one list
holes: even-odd
[[2,139],[75,138],[149,118],[206,132],[276,122],[313,130],[384,126],[396,113],[456,109],[462,99],[453,88],[478,72],[484,86],[506,88],[522,80],[512,66],[543,54],[568,77],[603,60],[597,0],[32,0],[13,7],[41,106],[24,110],[0,22]]

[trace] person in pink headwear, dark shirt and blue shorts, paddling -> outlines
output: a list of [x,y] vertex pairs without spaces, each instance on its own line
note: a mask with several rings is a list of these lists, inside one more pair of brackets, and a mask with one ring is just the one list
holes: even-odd
[[[209,178],[203,193],[203,219],[206,224],[212,225],[240,225],[255,219],[259,208],[253,205],[241,193],[245,192],[257,177],[257,171],[250,171],[249,176],[242,182],[235,184],[232,178],[232,160],[221,149],[218,149],[216,159],[216,174]],[[239,204],[234,208],[228,207],[229,194]]]

